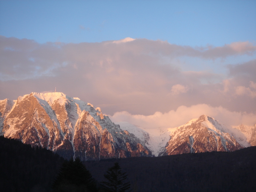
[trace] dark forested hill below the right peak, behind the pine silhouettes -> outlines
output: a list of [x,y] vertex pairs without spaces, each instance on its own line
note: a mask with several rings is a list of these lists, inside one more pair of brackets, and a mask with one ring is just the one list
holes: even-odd
[[255,191],[256,147],[234,152],[204,152],[87,161],[98,182],[118,161],[134,192]]

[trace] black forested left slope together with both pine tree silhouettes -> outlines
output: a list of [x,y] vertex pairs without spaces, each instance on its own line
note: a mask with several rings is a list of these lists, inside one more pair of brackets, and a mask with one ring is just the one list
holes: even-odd
[[106,180],[98,183],[79,158],[63,159],[50,150],[0,136],[1,192],[127,191],[127,175],[118,163],[113,165],[106,171]]

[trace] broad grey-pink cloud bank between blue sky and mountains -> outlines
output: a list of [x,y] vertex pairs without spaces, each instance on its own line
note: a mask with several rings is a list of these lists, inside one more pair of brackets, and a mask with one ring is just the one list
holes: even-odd
[[[150,117],[158,122],[154,127],[179,126],[177,114],[189,120],[194,116],[185,111],[192,109],[195,118],[213,114],[222,120],[234,115],[234,122],[241,123],[256,113],[256,46],[248,41],[221,47],[132,38],[40,44],[0,36],[0,58],[1,100],[56,87],[101,107],[116,121],[116,112],[128,112],[125,117],[131,120],[141,114],[146,122]],[[216,110],[221,115],[215,115]],[[158,116],[163,123],[177,123],[161,125],[154,118]],[[248,123],[256,122],[248,118]]]

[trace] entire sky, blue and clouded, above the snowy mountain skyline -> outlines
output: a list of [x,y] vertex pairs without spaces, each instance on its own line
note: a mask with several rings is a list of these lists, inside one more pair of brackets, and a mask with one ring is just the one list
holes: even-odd
[[256,1],[0,1],[0,100],[63,92],[114,122],[256,123]]

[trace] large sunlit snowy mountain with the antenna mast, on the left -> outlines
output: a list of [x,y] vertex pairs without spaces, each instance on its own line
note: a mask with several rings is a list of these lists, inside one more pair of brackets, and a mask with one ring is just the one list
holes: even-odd
[[99,107],[63,93],[31,93],[0,101],[0,132],[67,159],[152,156],[143,142],[122,131]]

